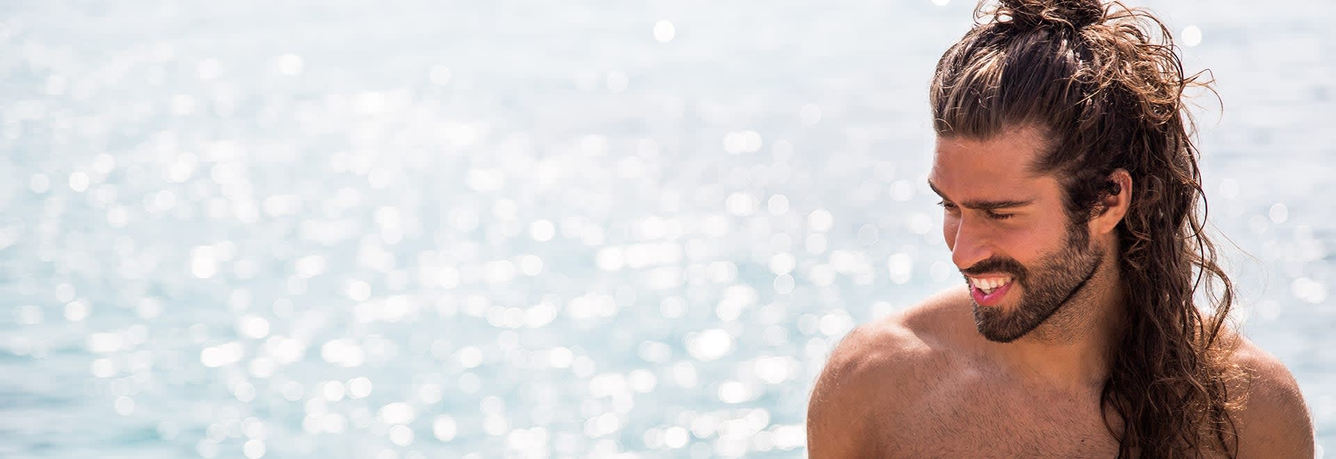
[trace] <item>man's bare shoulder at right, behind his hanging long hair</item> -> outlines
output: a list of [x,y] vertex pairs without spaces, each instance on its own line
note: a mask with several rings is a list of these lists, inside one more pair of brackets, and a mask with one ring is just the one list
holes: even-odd
[[1233,390],[1244,404],[1233,418],[1240,458],[1312,458],[1313,423],[1299,382],[1276,356],[1237,338],[1230,359],[1244,378]]

